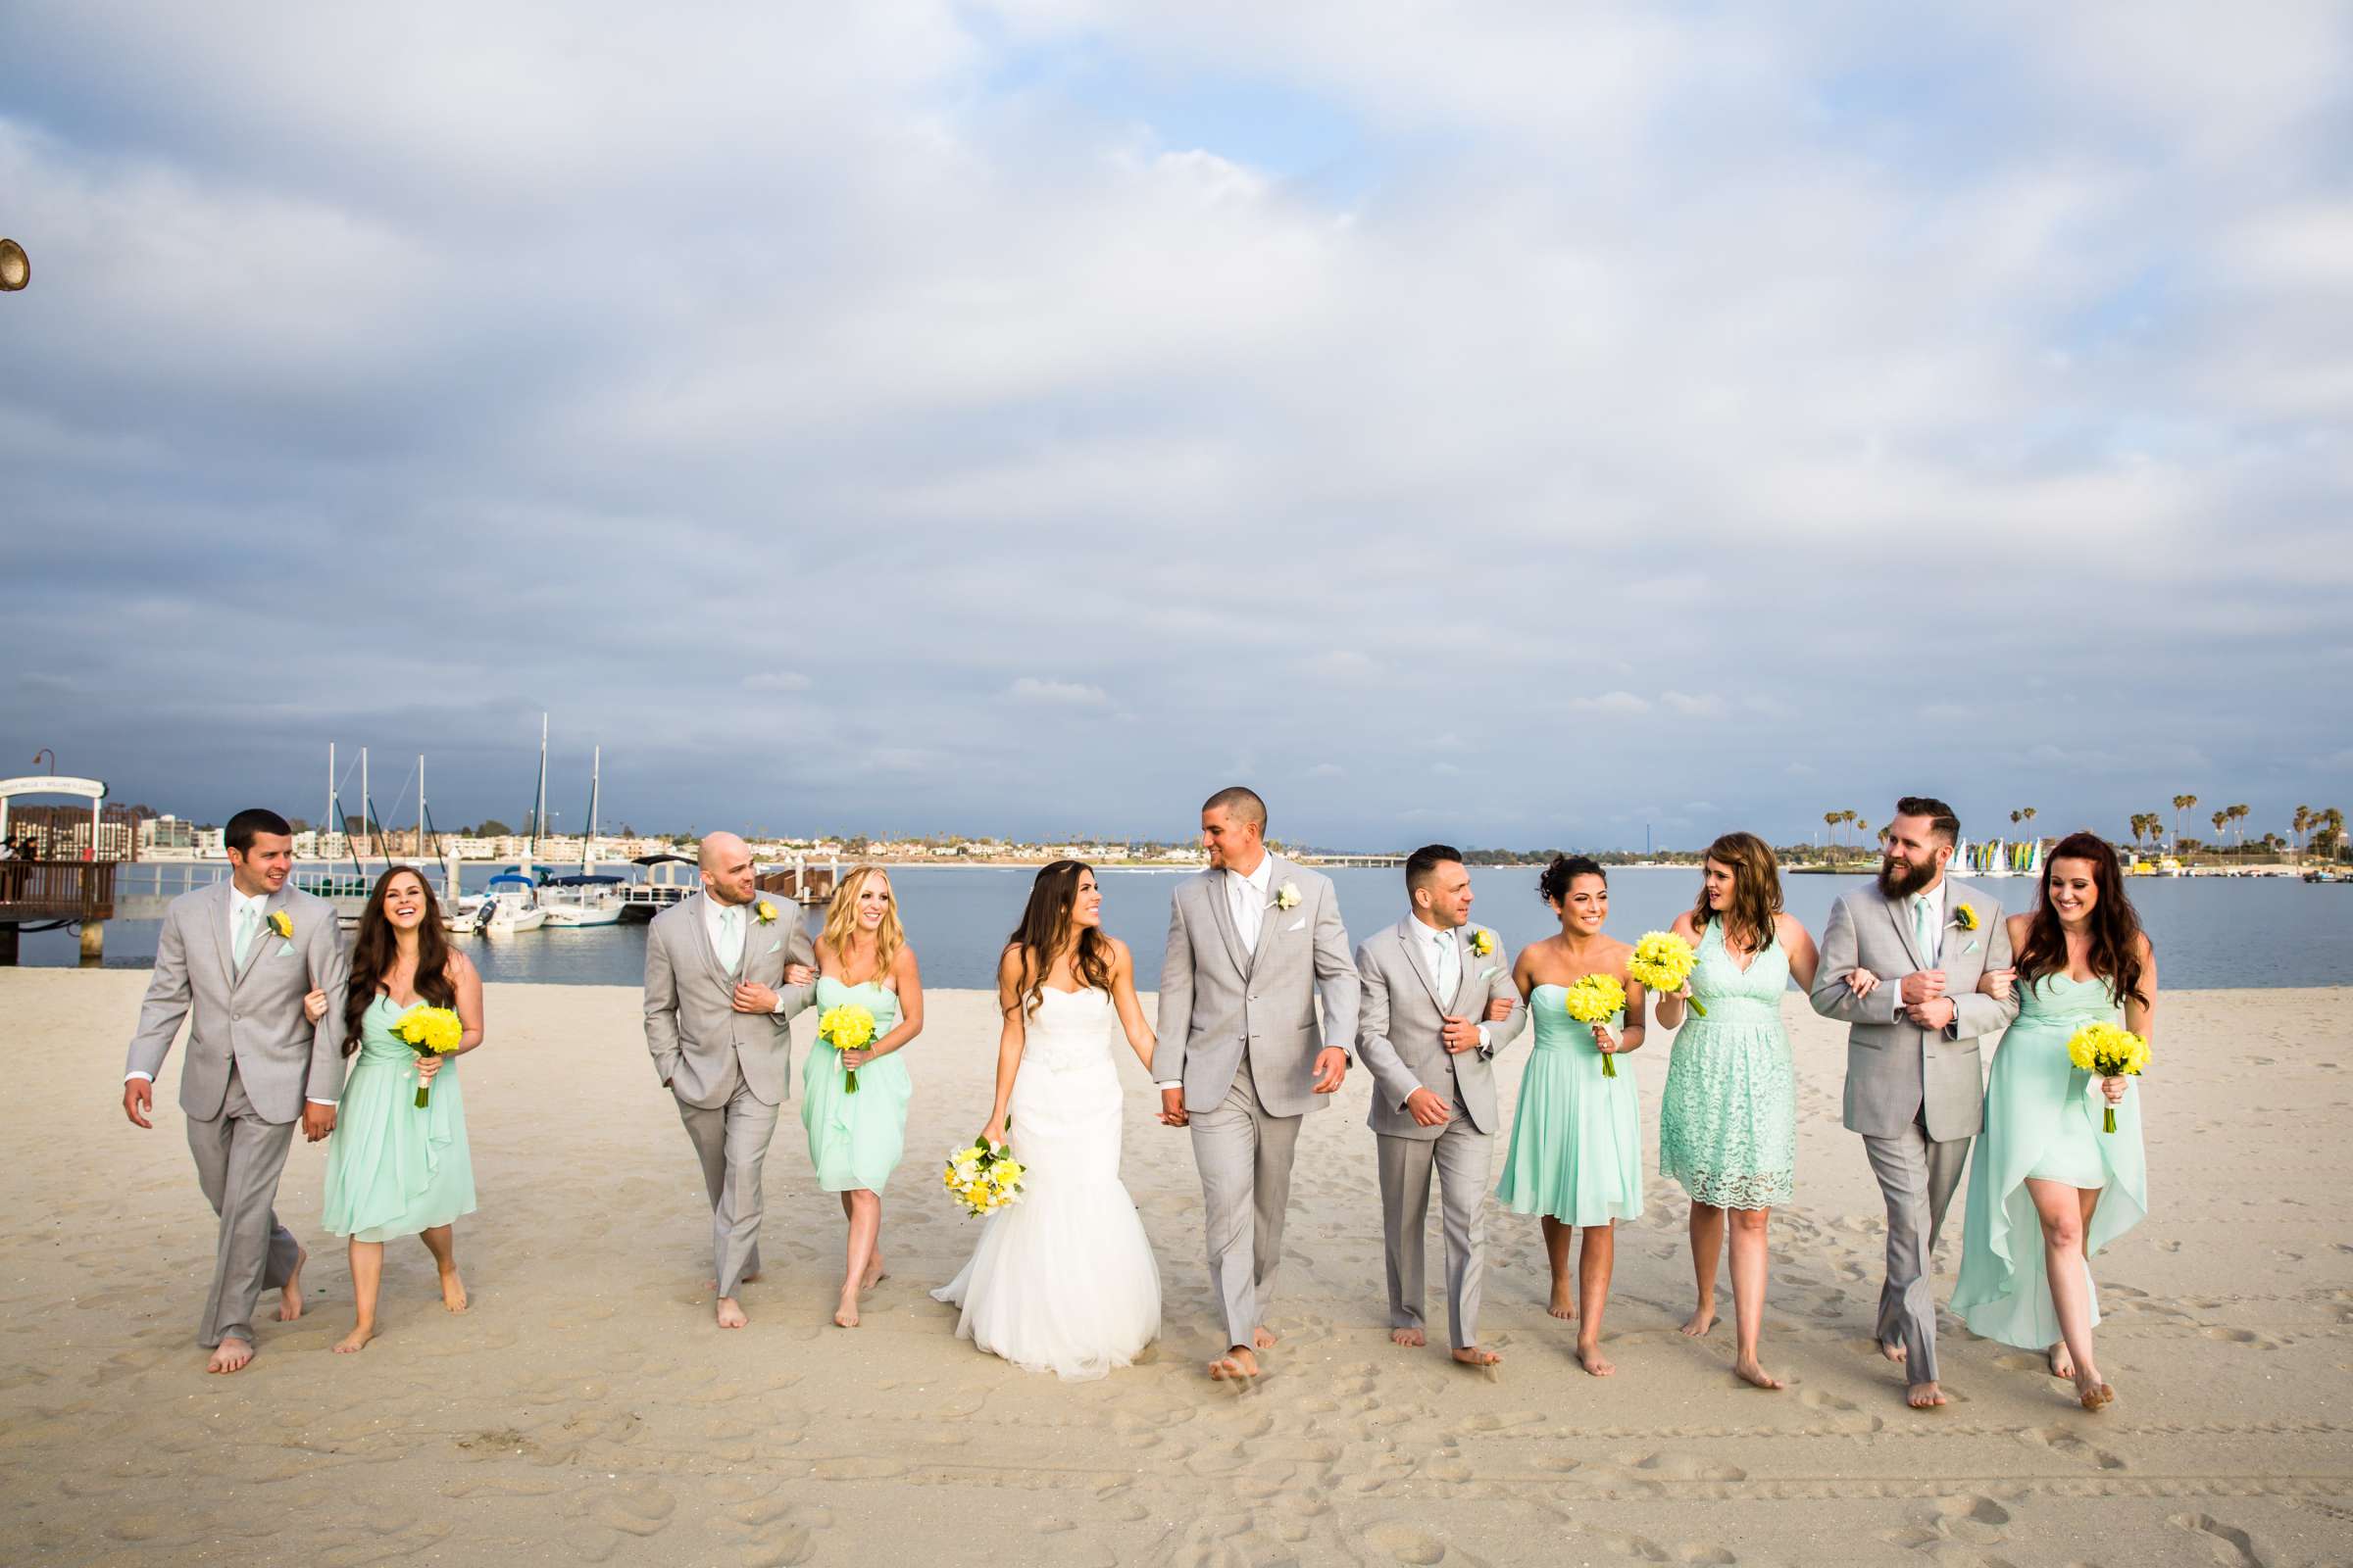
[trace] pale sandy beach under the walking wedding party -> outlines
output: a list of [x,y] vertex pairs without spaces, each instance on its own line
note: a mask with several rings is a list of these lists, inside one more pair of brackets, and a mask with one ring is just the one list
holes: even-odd
[[[322,1145],[278,1211],[311,1309],[256,1363],[193,1342],[214,1220],[165,1072],[155,1131],[120,1110],[144,973],[0,971],[16,1046],[0,1218],[0,1561],[7,1563],[2224,1563],[2353,1561],[2353,1229],[2346,994],[2165,999],[2146,1084],[2151,1220],[2097,1260],[2085,1415],[2038,1356],[1944,1326],[1955,1403],[1913,1413],[1871,1345],[1880,1204],[1838,1126],[1840,1032],[1791,997],[1798,1204],[1774,1218],[1765,1361],[1729,1371],[1689,1307],[1685,1204],[1657,1182],[1666,1039],[1631,1058],[1647,1213],[1621,1227],[1609,1354],[1586,1378],[1544,1314],[1534,1220],[1489,1208],[1475,1373],[1388,1345],[1367,1079],[1308,1119],[1268,1375],[1219,1345],[1188,1140],[1125,1058],[1125,1178],[1167,1291],[1162,1342],[1104,1382],[1019,1373],[953,1338],[927,1288],[974,1237],[936,1157],[986,1110],[993,1006],[932,992],[911,1046],[889,1281],[828,1324],[842,1218],[809,1185],[798,1103],[767,1166],[767,1279],[722,1333],[708,1208],[647,1067],[635,990],[494,985],[464,1060],[482,1208],[459,1222],[473,1312],[424,1248],[388,1253],[384,1338],[351,1324],[318,1227]],[[800,1020],[807,1048],[812,1023]],[[1525,1044],[1504,1058],[1518,1088]],[[1501,1147],[1501,1145],[1499,1145]],[[1435,1211],[1435,1204],[1433,1204]],[[1433,1213],[1435,1232],[1435,1213]],[[1431,1237],[1433,1284],[1440,1244]],[[1960,1213],[1939,1253],[1951,1293]],[[1442,1298],[1431,1312],[1445,1324]]]

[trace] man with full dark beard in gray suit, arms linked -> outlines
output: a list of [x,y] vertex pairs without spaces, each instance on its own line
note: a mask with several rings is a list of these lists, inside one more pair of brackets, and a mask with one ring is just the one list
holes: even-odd
[[[1937,1232],[1984,1124],[1986,1074],[1977,1041],[2000,1034],[2019,1004],[1981,997],[1988,969],[2009,969],[2002,905],[1946,882],[1960,818],[1941,799],[1906,795],[1887,823],[1880,877],[1831,907],[1814,973],[1814,1011],[1847,1025],[1847,1131],[1864,1135],[1887,1201],[1887,1284],[1880,1352],[1904,1368],[1906,1403],[1946,1403],[1937,1382]],[[1878,985],[1857,992],[1866,969]]]

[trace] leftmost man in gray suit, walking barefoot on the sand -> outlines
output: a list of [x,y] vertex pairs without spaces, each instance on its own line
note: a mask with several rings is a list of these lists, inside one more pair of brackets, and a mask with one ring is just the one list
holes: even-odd
[[[122,1074],[122,1114],[153,1126],[155,1074],[181,1020],[193,1016],[179,1070],[179,1110],[205,1201],[221,1215],[212,1293],[198,1342],[205,1371],[254,1359],[254,1302],[285,1295],[280,1321],[301,1316],[304,1251],[278,1222],[294,1121],[318,1143],[334,1131],[344,1093],[344,926],[334,905],[287,886],[294,830],[275,811],[228,818],[228,879],[181,893],[162,917]],[[327,1013],[304,1018],[304,994],[327,992]]]

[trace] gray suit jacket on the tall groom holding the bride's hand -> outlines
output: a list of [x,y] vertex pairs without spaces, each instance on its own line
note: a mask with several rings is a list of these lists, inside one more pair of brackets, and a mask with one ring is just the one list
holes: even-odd
[[[1184,1079],[1188,1112],[1214,1110],[1249,1051],[1259,1107],[1271,1117],[1322,1110],[1315,1093],[1315,1053],[1325,1041],[1348,1048],[1355,1039],[1358,978],[1348,961],[1348,931],[1339,924],[1332,879],[1282,856],[1268,856],[1268,889],[1299,903],[1268,903],[1259,945],[1242,950],[1226,907],[1226,872],[1202,872],[1176,884],[1169,900],[1169,945],[1160,964],[1160,1051],[1155,1079]],[[1315,992],[1322,992],[1322,1032]]]

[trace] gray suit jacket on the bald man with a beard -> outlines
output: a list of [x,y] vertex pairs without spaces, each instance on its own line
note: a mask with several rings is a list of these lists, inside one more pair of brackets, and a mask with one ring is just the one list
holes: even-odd
[[[760,924],[760,900],[776,919]],[[711,950],[704,893],[680,898],[645,929],[645,1048],[654,1077],[682,1105],[718,1110],[736,1084],[762,1105],[793,1098],[793,1013],[809,1006],[809,985],[786,985],[786,964],[816,969],[816,945],[800,926],[800,905],[755,893],[744,910],[744,964],[729,976]],[[784,997],[781,1013],[734,1011],[736,980],[767,985]]]

